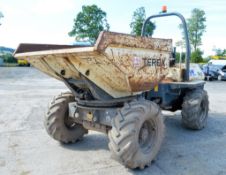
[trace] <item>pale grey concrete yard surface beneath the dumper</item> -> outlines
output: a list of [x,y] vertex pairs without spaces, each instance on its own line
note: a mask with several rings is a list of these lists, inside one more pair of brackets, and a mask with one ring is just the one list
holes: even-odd
[[43,128],[51,98],[67,90],[34,68],[0,68],[0,175],[226,174],[226,82],[208,82],[208,126],[181,127],[180,113],[167,113],[166,137],[157,160],[129,170],[110,158],[105,135],[90,132],[76,144],[61,145]]

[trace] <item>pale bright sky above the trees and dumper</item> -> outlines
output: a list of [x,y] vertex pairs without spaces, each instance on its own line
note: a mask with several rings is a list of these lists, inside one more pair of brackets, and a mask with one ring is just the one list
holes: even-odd
[[[73,19],[83,5],[96,4],[107,12],[110,31],[130,33],[129,24],[135,9],[144,6],[146,16],[157,14],[162,5],[168,12],[179,12],[189,18],[194,8],[206,12],[206,32],[201,49],[204,56],[213,55],[213,48],[226,48],[225,0],[0,0],[0,46],[16,48],[19,43],[72,44],[68,36]],[[176,17],[155,19],[153,37],[181,39]]]

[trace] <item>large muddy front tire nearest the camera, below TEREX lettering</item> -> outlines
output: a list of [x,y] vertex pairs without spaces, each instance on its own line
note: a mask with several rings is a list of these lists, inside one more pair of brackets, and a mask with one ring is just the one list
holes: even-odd
[[108,136],[114,159],[132,169],[149,166],[164,138],[159,106],[146,100],[125,105],[112,120]]

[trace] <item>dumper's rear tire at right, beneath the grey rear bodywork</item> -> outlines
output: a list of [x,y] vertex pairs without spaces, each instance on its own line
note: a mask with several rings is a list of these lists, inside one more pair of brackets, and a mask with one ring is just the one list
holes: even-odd
[[207,92],[197,89],[188,92],[182,104],[182,124],[186,128],[200,130],[207,124],[209,100]]

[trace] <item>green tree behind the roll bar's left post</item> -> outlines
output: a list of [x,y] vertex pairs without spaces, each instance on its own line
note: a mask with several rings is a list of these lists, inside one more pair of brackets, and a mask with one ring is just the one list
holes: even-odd
[[[140,7],[133,12],[132,22],[130,23],[130,28],[132,29],[131,34],[140,36],[142,31],[143,23],[146,19],[145,8]],[[145,34],[147,36],[152,36],[156,26],[151,21],[148,22]]]

